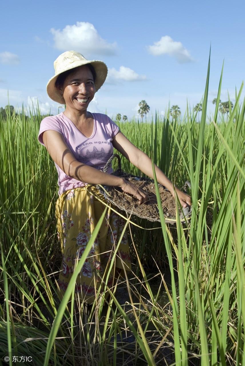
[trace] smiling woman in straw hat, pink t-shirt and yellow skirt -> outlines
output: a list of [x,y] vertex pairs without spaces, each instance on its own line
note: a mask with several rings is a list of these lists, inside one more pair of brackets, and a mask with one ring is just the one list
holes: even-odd
[[[46,117],[41,122],[38,140],[45,145],[56,165],[59,179],[59,199],[56,203],[58,236],[63,253],[59,277],[61,295],[67,288],[76,261],[81,257],[93,229],[101,217],[103,200],[96,184],[118,186],[143,204],[146,193],[127,180],[103,173],[103,167],[113,153],[122,153],[143,173],[153,177],[150,158],[137,149],[106,115],[87,111],[95,92],[107,76],[102,61],[89,61],[78,52],[68,51],[54,61],[55,75],[47,85],[54,101],[65,104],[65,111]],[[157,180],[174,196],[174,188],[163,172],[155,166]],[[175,188],[181,205],[191,205],[188,195]],[[96,198],[97,196],[98,198]],[[76,281],[75,291],[85,302],[92,303],[106,273],[113,248],[120,238],[124,221],[108,209],[90,255]],[[122,264],[123,261],[123,264]],[[116,267],[116,268],[115,268]],[[124,236],[118,248],[114,271],[131,269],[129,247]],[[108,285],[113,283],[110,273]]]

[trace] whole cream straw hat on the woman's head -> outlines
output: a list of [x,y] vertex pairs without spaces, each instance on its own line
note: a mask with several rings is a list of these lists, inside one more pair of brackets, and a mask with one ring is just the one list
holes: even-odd
[[65,104],[63,96],[61,96],[60,91],[55,86],[57,77],[62,74],[62,72],[87,64],[92,64],[94,67],[96,73],[95,91],[98,91],[105,82],[107,76],[108,68],[106,64],[99,60],[87,60],[81,53],[76,51],[66,51],[54,61],[55,75],[49,80],[47,84],[48,96],[60,104]]

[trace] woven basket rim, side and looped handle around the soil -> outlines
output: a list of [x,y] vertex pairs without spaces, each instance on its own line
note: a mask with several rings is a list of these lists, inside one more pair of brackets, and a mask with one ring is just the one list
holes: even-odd
[[[140,178],[138,176],[135,176],[135,175],[132,175],[132,174],[129,174],[129,173],[125,173],[124,171],[122,171],[121,169],[121,159],[120,159],[120,156],[118,154],[113,154],[108,162],[105,164],[105,167],[103,169],[103,172],[106,172],[108,170],[108,168],[110,167],[111,163],[112,163],[112,160],[114,158],[117,158],[118,160],[118,169],[116,171],[114,171],[112,173],[112,175],[115,175],[115,176],[118,176],[118,177],[121,177],[121,178],[124,178],[124,179],[127,179],[130,183],[134,183],[134,182],[137,182],[137,181],[140,181],[142,184],[146,184],[148,185],[149,183],[152,183],[152,185],[154,185],[154,180],[152,179],[143,179],[143,178]],[[163,188],[163,190],[169,192],[167,190],[167,188],[163,187],[162,184],[158,184],[158,187],[159,188]],[[190,188],[191,187],[191,184],[186,181],[185,184],[184,184],[184,190],[187,191],[188,187]],[[113,186],[101,186],[99,184],[97,184],[97,188],[99,189],[100,193],[102,193],[105,197],[105,199],[109,202],[111,202],[114,206],[116,206],[117,208],[119,208],[120,210],[123,210],[125,212],[127,212],[128,214],[133,214],[133,215],[136,215],[142,219],[147,219],[149,221],[160,221],[160,218],[159,218],[159,212],[158,212],[158,207],[156,204],[153,204],[153,203],[150,203],[148,204],[148,208],[150,205],[152,205],[152,210],[155,210],[155,214],[151,214],[151,217],[149,217],[150,215],[147,216],[147,214],[142,214],[142,213],[139,213],[137,212],[137,209],[134,208],[134,206],[132,206],[130,209],[127,207],[124,206],[124,199],[120,198],[120,197],[126,197],[126,196],[130,196],[128,195],[127,193],[124,193],[121,191],[120,188],[118,187],[113,187]],[[148,194],[150,194],[152,196],[152,192],[150,191],[147,191],[145,190]],[[120,196],[120,197],[119,197]],[[114,197],[114,198],[113,198]],[[116,197],[116,199],[115,199]],[[131,196],[132,197],[132,196]],[[117,199],[118,198],[118,199]],[[171,198],[173,199],[174,201],[174,198],[171,196]],[[135,202],[137,200],[135,199]],[[175,205],[175,203],[174,203]],[[153,208],[154,206],[154,208]],[[190,219],[190,216],[191,216],[191,208],[187,207],[187,208],[182,208],[183,210],[183,213],[184,213],[184,216],[182,215],[182,213],[180,213],[180,220],[181,222],[185,222],[185,220],[189,220]],[[176,224],[176,217],[166,217],[165,216],[165,222],[166,223],[169,223],[169,224]]]

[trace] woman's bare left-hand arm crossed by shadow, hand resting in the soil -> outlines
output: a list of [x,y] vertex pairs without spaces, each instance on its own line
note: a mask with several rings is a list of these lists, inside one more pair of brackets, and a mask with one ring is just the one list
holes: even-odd
[[66,175],[88,184],[121,187],[124,192],[135,196],[140,204],[147,200],[146,193],[133,184],[76,160],[59,132],[47,130],[43,133],[42,138],[53,161]]

